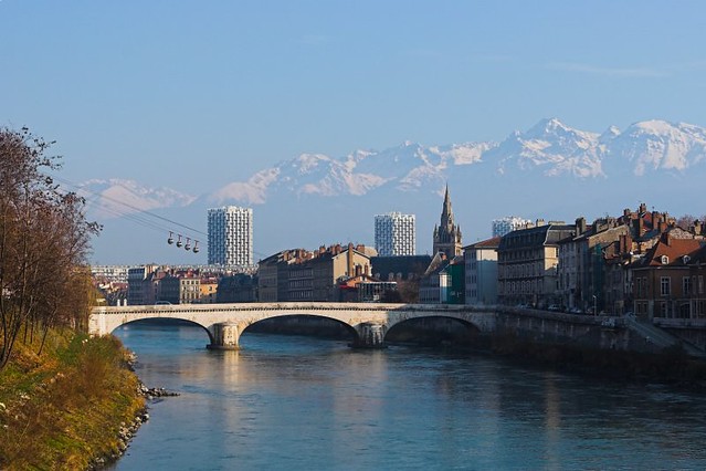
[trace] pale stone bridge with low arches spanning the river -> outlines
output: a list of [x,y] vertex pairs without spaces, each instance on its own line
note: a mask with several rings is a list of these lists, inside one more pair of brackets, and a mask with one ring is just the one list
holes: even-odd
[[380,347],[394,325],[422,317],[455,318],[482,333],[495,328],[495,312],[464,305],[378,303],[239,303],[168,304],[94,307],[88,321],[92,335],[110,334],[117,327],[149,318],[176,318],[200,325],[209,335],[209,348],[238,349],[242,333],[273,317],[307,315],[337,321],[354,334],[354,346]]

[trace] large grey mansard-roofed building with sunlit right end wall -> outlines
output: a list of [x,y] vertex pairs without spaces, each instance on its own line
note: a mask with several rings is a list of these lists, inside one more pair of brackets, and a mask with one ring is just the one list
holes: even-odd
[[560,304],[557,290],[559,244],[573,236],[572,224],[545,223],[509,232],[497,249],[497,294],[504,305],[529,304],[548,307]]

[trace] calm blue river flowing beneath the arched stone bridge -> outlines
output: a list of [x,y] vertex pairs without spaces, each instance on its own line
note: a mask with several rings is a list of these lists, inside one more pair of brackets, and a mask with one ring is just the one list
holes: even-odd
[[149,387],[180,396],[117,470],[706,469],[706,396],[615,384],[485,354],[200,327],[115,332]]

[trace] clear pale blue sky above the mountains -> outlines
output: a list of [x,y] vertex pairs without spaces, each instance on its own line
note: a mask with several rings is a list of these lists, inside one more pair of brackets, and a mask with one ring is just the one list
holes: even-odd
[[706,125],[702,1],[0,0],[0,125],[199,195],[301,153]]

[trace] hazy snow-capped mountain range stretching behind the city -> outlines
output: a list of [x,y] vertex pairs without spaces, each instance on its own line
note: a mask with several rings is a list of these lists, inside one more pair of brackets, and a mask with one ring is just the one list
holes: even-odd
[[[423,146],[405,142],[384,150],[355,150],[343,158],[302,154],[201,196],[135,180],[91,180],[82,187],[102,197],[93,214],[112,230],[125,226],[109,222],[116,216],[150,219],[140,212],[149,211],[162,218],[156,226],[185,221],[204,231],[206,208],[251,206],[256,259],[292,247],[349,240],[371,244],[376,213],[413,212],[418,252],[426,253],[445,185],[456,219],[464,234],[471,236],[464,242],[471,243],[489,236],[492,219],[508,214],[572,220],[613,214],[643,201],[661,211],[700,214],[705,211],[696,196],[705,175],[704,157],[706,128],[691,124],[655,119],[622,132],[611,126],[592,133],[548,118],[499,143]],[[178,232],[179,227],[173,230]],[[106,232],[94,244],[96,255],[103,253],[103,240],[125,239],[106,237]],[[108,245],[115,247],[114,242]],[[157,257],[159,251],[146,254]],[[165,252],[164,257],[173,255]],[[187,261],[197,263],[193,257]],[[103,261],[102,255],[97,259],[118,263]],[[162,260],[125,260],[148,261]]]

